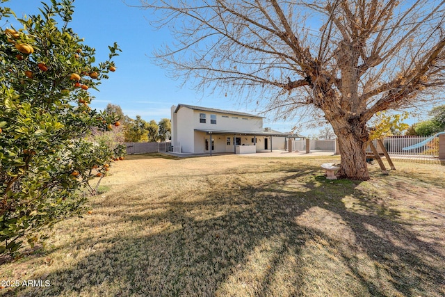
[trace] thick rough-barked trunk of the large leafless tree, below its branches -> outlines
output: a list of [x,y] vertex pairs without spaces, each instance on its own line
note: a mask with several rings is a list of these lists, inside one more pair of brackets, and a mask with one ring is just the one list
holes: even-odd
[[339,150],[341,155],[340,170],[337,172],[337,177],[368,180],[369,172],[366,163],[366,145],[369,136],[363,129],[348,129],[348,127],[334,127],[337,126],[332,123],[334,132],[337,135]]

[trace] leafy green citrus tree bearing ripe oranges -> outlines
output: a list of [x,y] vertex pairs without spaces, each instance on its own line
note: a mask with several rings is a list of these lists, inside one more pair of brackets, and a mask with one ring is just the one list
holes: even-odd
[[[69,27],[72,3],[42,3],[41,15],[17,19],[21,28],[0,28],[0,253],[33,246],[44,227],[82,214],[81,189],[114,156],[87,141],[119,120],[90,109],[88,88],[108,79],[120,49],[95,63],[95,49]],[[0,18],[11,15],[1,8]]]

